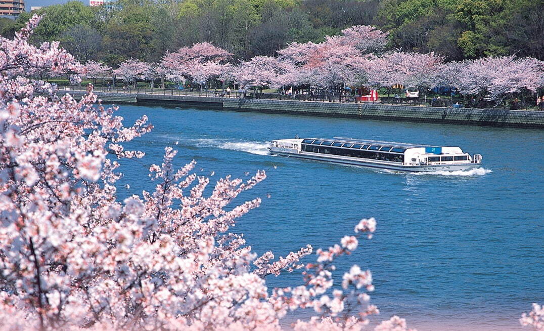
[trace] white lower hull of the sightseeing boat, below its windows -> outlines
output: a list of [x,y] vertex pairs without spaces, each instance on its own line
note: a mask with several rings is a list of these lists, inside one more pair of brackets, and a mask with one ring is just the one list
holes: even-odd
[[354,157],[337,157],[335,155],[322,155],[311,152],[291,152],[287,149],[274,149],[270,148],[271,155],[280,155],[288,157],[303,158],[306,160],[326,161],[339,164],[347,164],[349,166],[360,166],[374,169],[384,169],[393,171],[403,171],[410,173],[430,173],[433,171],[464,171],[469,169],[478,168],[480,163],[462,163],[462,164],[436,164],[432,166],[405,166],[404,164],[384,164],[378,162],[372,162],[366,159],[354,158]]

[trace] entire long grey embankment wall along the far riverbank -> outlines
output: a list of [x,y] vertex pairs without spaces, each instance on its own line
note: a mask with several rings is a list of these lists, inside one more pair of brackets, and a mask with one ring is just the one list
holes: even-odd
[[[63,92],[63,91],[59,91]],[[66,91],[76,99],[84,91]],[[294,115],[375,119],[392,121],[439,122],[446,124],[544,128],[544,111],[477,109],[382,105],[381,103],[292,101],[276,99],[243,99],[239,97],[190,96],[147,93],[111,93],[95,91],[105,103],[134,105],[201,106],[228,111],[284,113]]]

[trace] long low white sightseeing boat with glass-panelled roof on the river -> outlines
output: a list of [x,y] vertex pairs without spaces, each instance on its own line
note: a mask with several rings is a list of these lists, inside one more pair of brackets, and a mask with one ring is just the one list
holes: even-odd
[[269,150],[271,155],[417,173],[468,170],[481,164],[480,154],[471,156],[459,147],[350,138],[279,139]]

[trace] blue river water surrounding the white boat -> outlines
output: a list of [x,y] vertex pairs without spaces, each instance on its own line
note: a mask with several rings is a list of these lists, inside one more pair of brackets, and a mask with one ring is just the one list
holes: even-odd
[[[520,330],[521,312],[544,303],[541,130],[143,106],[121,106],[118,114],[126,125],[147,114],[154,125],[127,144],[146,156],[123,163],[121,195],[152,189],[147,169],[167,145],[179,151],[176,166],[195,159],[197,173],[214,171],[212,183],[266,170],[268,178],[239,199],[261,197],[261,207],[232,229],[257,253],[326,248],[361,218],[375,217],[374,238],[337,261],[335,279],[339,284],[354,263],[370,269],[379,320],[399,315],[418,330]],[[399,174],[267,154],[267,142],[295,134],[460,146],[482,154],[483,166]],[[295,272],[267,282],[296,286],[302,279]],[[287,321],[305,316],[296,314]]]

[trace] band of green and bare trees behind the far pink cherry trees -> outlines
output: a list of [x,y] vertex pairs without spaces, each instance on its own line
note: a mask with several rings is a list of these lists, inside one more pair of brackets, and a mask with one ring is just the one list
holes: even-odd
[[[209,41],[243,60],[275,56],[289,42],[320,42],[354,25],[390,32],[390,50],[446,60],[515,54],[544,60],[544,0],[120,0],[113,9],[72,1],[46,14],[33,41],[59,40],[82,63],[156,62]],[[13,35],[32,13],[0,20]]]

